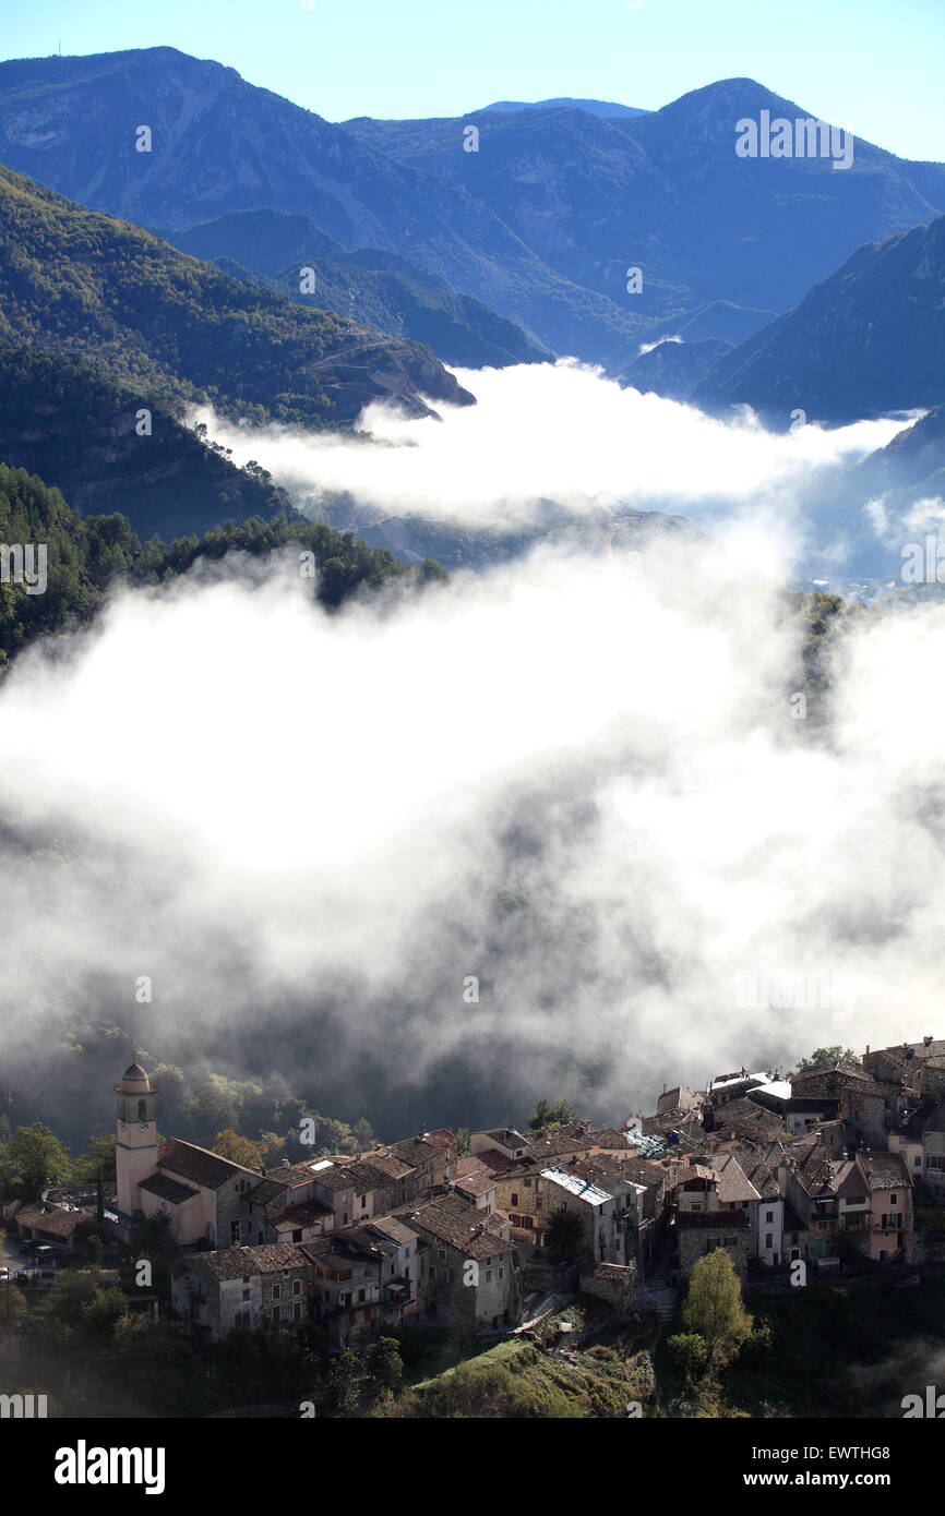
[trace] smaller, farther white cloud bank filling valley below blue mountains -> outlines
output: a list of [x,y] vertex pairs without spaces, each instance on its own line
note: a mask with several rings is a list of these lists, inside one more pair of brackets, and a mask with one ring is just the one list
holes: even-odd
[[457,370],[475,406],[443,406],[441,420],[408,420],[372,405],[375,438],[238,428],[196,412],[240,464],[255,458],[317,515],[347,491],[379,515],[420,514],[464,526],[513,529],[538,502],[582,514],[629,505],[695,522],[766,509],[796,517],[802,494],[845,461],[883,447],[901,420],[827,431],[769,432],[749,412],[719,420],[620,388],[572,359]]

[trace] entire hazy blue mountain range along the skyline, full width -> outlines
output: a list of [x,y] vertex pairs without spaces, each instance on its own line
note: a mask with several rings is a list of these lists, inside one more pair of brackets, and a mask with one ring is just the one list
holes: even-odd
[[[558,353],[622,368],[648,334],[717,300],[761,326],[860,243],[945,211],[942,165],[868,143],[845,173],[739,159],[736,121],[761,109],[812,114],[731,79],[631,117],[537,106],[334,126],[221,64],[147,49],[2,64],[0,161],[159,230],[259,208],[311,217]],[[141,123],[150,153],[135,152]],[[478,152],[464,150],[467,126]],[[643,270],[639,294],[629,267]],[[710,315],[701,335],[748,334]]]

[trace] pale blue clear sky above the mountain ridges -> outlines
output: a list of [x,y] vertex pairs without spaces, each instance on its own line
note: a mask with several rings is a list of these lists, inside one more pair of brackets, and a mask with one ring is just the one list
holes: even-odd
[[332,121],[563,94],[655,109],[746,74],[880,147],[945,161],[942,0],[42,0],[9,11],[8,58],[59,42],[64,53],[165,44]]

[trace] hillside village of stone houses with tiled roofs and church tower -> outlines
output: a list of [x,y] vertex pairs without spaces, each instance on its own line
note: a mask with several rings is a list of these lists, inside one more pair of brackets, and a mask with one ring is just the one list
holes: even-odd
[[114,1090],[115,1196],[96,1217],[50,1193],[8,1207],[6,1225],[68,1255],[94,1223],[133,1252],[161,1217],[168,1322],[196,1343],[311,1322],[335,1349],[411,1325],[501,1337],[578,1295],[667,1319],[719,1248],[742,1281],[775,1289],[798,1261],[825,1281],[937,1261],[922,1223],[945,1196],[933,1037],[790,1081],[740,1069],[666,1088],[652,1116],[610,1129],[499,1126],[463,1145],[435,1129],[264,1172],[159,1143],[159,1090],[138,1063]]

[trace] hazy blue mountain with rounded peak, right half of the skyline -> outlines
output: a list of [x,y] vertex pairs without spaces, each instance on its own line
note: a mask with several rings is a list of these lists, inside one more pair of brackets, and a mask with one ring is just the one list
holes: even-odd
[[[737,158],[736,123],[761,111],[816,115],[727,79],[633,118],[535,109],[347,124],[397,162],[461,182],[558,273],[619,300],[637,264],[692,305],[780,312],[860,243],[945,211],[945,167],[859,139],[842,173],[819,158]],[[466,123],[479,126],[478,153],[458,150]]]

